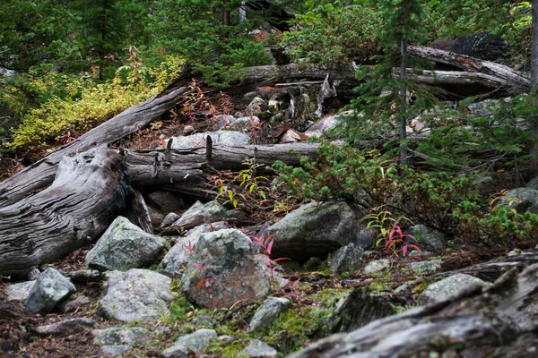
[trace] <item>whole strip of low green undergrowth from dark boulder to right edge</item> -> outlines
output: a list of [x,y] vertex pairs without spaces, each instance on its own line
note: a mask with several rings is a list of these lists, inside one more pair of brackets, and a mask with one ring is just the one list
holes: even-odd
[[[538,215],[518,212],[510,200],[489,203],[479,194],[479,175],[421,172],[398,166],[376,150],[328,143],[320,145],[317,154],[315,161],[301,158],[299,167],[274,164],[282,183],[304,200],[351,200],[364,208],[382,207],[388,217],[405,217],[450,238],[487,247],[534,242]],[[392,221],[388,224],[382,226],[386,236],[394,229]],[[402,238],[403,229],[397,228]]]

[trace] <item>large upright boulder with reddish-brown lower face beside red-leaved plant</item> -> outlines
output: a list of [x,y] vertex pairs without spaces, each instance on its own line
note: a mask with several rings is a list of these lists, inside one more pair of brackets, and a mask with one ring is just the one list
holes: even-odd
[[[275,275],[274,277],[278,277]],[[271,291],[271,270],[237,229],[202,234],[181,280],[187,299],[202,307],[255,302]]]

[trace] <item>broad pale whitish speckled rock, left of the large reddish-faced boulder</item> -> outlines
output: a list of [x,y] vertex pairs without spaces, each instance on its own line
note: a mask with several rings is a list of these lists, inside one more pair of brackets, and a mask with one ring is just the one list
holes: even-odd
[[174,299],[171,279],[149,269],[132,268],[109,274],[97,311],[115,320],[159,320],[169,312],[167,303]]

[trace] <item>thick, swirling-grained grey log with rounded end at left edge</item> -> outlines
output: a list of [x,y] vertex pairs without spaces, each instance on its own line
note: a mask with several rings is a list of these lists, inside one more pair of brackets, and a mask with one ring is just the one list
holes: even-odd
[[92,243],[131,190],[125,162],[105,146],[65,156],[46,190],[0,209],[0,275],[24,275]]

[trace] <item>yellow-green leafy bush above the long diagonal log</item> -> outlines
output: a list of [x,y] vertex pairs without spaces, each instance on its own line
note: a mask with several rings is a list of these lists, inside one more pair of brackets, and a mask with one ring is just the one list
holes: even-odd
[[[113,81],[96,83],[91,79],[69,79],[61,77],[56,81],[43,82],[32,79],[35,86],[64,86],[64,96],[52,96],[41,106],[31,109],[22,124],[13,129],[9,148],[22,151],[44,148],[46,141],[58,141],[68,131],[74,134],[87,132],[114,115],[143,102],[158,94],[170,80],[177,78],[184,62],[175,56],[165,57],[162,63],[153,69],[144,71],[147,76],[129,71],[117,72]],[[126,71],[125,71],[126,70]],[[135,75],[134,75],[135,74]],[[63,82],[63,83],[62,83]]]

